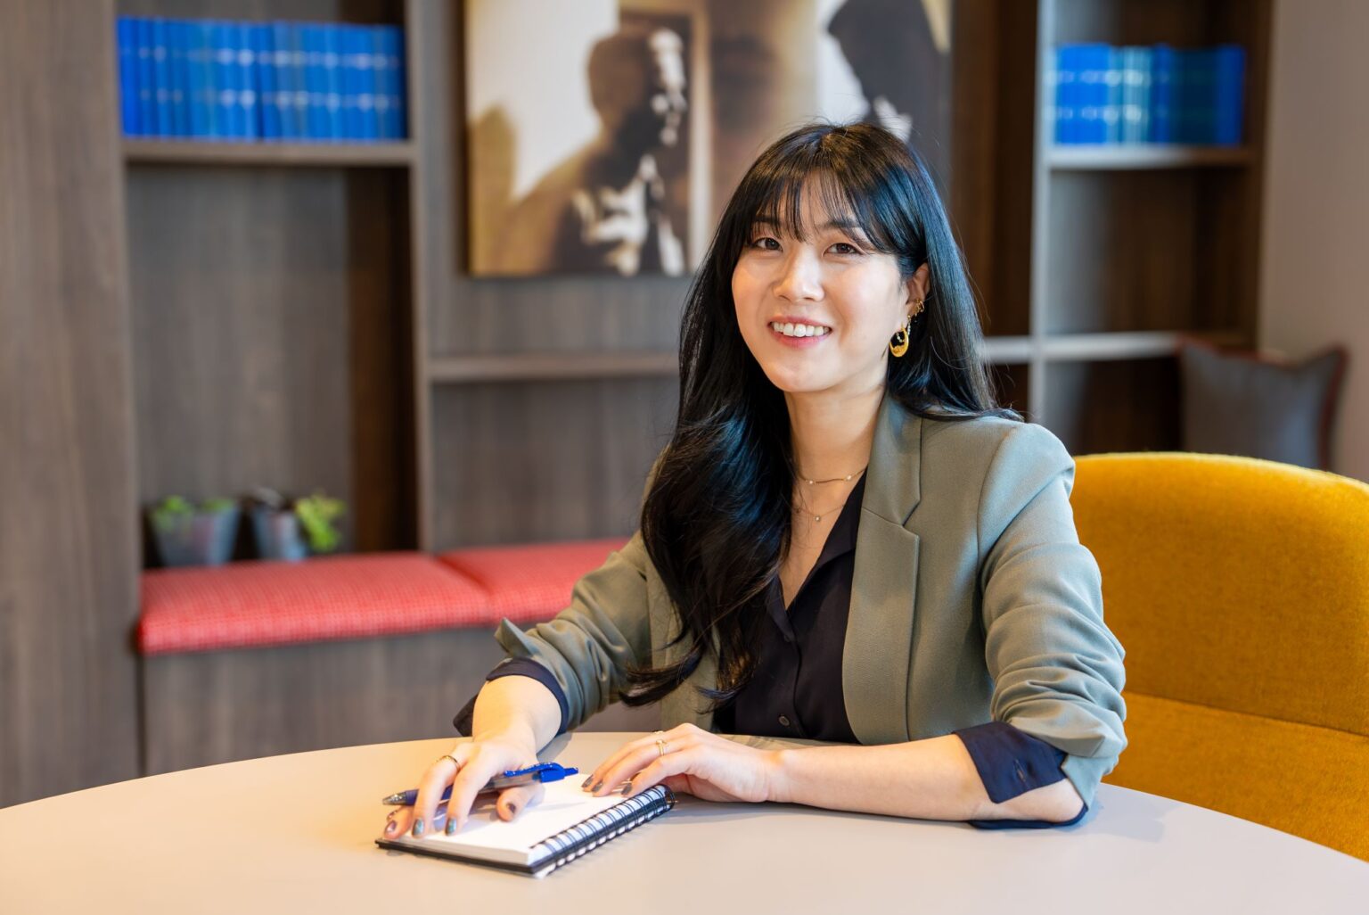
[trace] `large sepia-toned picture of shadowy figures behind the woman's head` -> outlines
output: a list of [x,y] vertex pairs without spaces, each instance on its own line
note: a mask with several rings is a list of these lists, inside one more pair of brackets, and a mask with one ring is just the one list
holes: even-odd
[[471,273],[687,274],[746,164],[876,122],[949,181],[951,0],[468,0]]

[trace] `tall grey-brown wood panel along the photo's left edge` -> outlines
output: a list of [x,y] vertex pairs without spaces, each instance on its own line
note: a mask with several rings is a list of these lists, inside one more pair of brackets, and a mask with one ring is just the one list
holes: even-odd
[[138,774],[112,34],[0,1],[0,805]]

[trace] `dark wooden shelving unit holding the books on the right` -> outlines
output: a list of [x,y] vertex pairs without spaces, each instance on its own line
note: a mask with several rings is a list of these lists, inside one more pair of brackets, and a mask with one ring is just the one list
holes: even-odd
[[[1268,0],[1036,0],[1031,70],[1028,415],[1073,453],[1179,447],[1180,334],[1253,347],[1269,59]],[[1025,26],[1025,22],[1019,25]],[[1028,30],[1023,29],[1024,36]],[[1005,38],[1008,41],[1027,41]],[[1239,147],[1057,147],[1060,44],[1246,48]],[[1017,60],[1014,64],[1013,62]],[[1019,142],[1021,131],[1006,137]]]

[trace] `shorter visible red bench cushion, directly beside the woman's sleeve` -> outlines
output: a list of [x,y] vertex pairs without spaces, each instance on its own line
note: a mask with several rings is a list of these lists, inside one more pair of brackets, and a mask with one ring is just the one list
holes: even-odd
[[580,575],[602,566],[608,555],[626,542],[626,537],[613,537],[481,547],[455,549],[438,559],[485,588],[493,622],[508,616],[515,623],[539,623],[571,603],[571,589]]

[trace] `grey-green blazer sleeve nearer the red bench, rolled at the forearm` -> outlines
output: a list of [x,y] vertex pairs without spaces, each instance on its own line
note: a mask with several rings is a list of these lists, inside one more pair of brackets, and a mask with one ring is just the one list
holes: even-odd
[[533,659],[556,678],[565,696],[565,730],[616,701],[627,668],[650,659],[649,562],[638,531],[575,584],[570,605],[554,619],[527,631],[505,619],[494,633],[509,657]]

